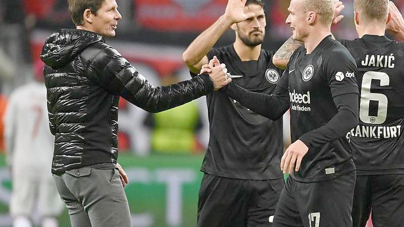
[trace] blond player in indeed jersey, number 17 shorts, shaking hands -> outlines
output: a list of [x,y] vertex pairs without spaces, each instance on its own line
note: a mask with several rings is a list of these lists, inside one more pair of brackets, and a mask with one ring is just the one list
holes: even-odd
[[275,94],[248,92],[236,84],[229,84],[226,92],[271,119],[290,108],[293,144],[281,168],[291,176],[274,226],[351,227],[356,174],[345,134],[357,124],[356,64],[331,37],[331,0],[292,0],[288,11],[292,37],[304,46],[291,56]]

